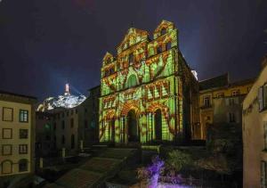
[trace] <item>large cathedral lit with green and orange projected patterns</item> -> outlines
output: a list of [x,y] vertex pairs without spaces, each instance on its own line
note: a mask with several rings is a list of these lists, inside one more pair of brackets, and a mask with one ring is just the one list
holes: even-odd
[[100,142],[181,143],[198,133],[198,81],[163,20],[150,34],[128,29],[101,67]]

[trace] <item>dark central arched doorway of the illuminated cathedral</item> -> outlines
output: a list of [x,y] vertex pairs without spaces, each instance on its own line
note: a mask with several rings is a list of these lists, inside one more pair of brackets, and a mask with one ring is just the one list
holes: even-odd
[[128,142],[139,142],[137,119],[134,110],[129,110],[127,114],[127,121],[128,121]]

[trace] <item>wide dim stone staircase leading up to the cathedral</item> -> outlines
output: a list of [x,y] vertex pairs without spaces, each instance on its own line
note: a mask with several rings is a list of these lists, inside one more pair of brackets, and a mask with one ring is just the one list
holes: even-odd
[[128,162],[137,159],[137,149],[106,148],[97,157],[85,161],[78,168],[71,169],[53,184],[45,188],[104,187],[105,181],[115,176]]

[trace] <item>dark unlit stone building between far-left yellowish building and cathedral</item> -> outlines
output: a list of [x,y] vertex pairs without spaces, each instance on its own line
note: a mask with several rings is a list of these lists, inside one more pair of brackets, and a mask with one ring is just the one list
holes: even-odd
[[98,97],[100,87],[89,90],[84,102],[73,108],[54,108],[36,112],[36,148],[43,153],[66,150],[75,155],[84,147],[98,143]]

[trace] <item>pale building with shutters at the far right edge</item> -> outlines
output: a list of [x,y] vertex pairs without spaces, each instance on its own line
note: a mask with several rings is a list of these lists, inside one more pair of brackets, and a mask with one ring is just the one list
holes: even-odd
[[243,102],[243,187],[267,187],[267,56]]

